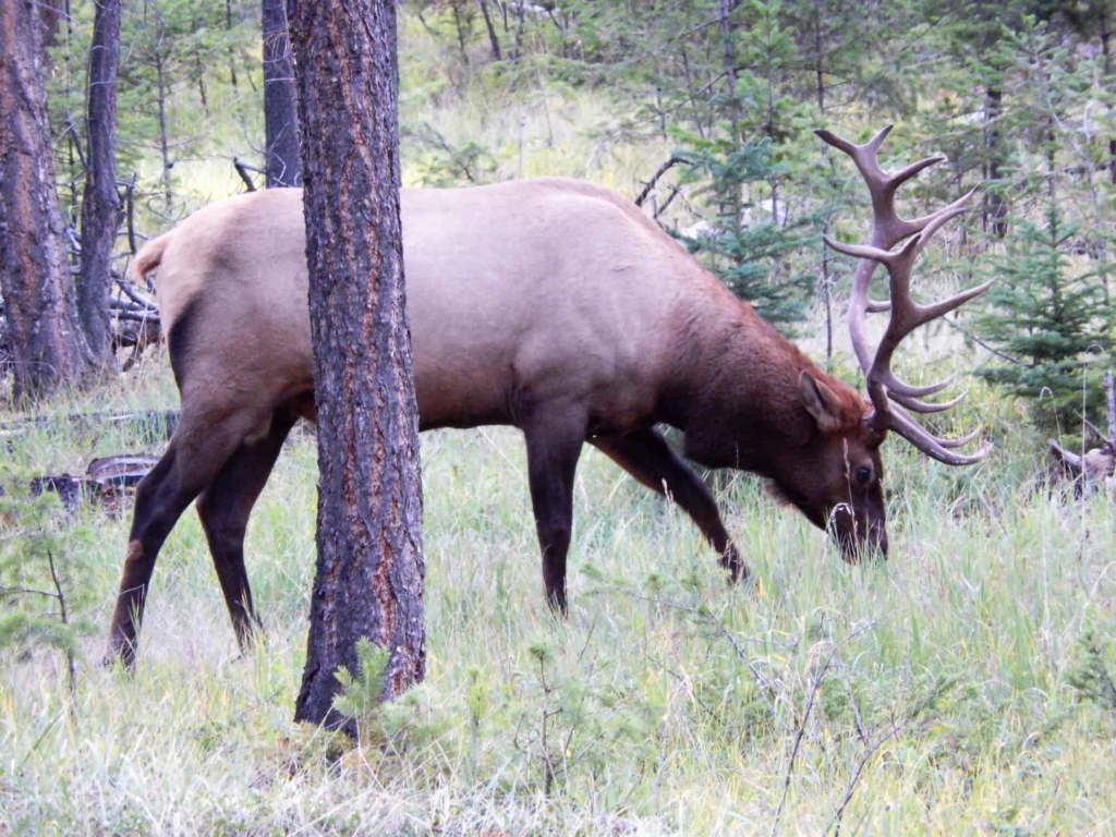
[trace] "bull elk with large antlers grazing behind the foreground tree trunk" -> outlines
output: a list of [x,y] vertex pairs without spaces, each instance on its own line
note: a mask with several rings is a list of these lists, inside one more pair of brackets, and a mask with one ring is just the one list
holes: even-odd
[[[565,613],[574,474],[585,442],[670,497],[720,556],[748,570],[709,489],[656,430],[684,433],[705,468],[767,478],[775,494],[831,532],[846,560],[886,555],[879,446],[888,430],[947,464],[965,464],[907,411],[935,387],[896,379],[899,340],[983,290],[929,308],[908,291],[926,240],[962,199],[926,218],[895,212],[896,187],[931,157],[886,175],[881,132],[854,146],[821,132],[860,169],[875,210],[852,329],[869,398],[816,367],[629,201],[561,180],[404,190],[402,220],[420,427],[514,425],[548,604]],[[903,250],[888,252],[912,237]],[[864,343],[876,261],[891,272],[892,325],[875,357]],[[181,415],[140,484],[109,632],[110,658],[134,663],[144,600],[165,538],[196,509],[239,643],[257,617],[244,570],[249,514],[288,432],[314,420],[301,193],[229,198],[151,241],[133,273],[158,268],[157,297]],[[904,410],[905,407],[905,410]]]

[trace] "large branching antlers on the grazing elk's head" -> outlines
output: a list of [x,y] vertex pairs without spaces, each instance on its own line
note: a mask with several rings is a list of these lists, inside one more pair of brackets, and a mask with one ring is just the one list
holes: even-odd
[[[834,250],[860,259],[853,278],[853,295],[848,304],[848,328],[853,350],[856,352],[860,368],[864,369],[868,397],[875,407],[872,414],[873,426],[879,431],[895,431],[920,451],[933,456],[939,462],[944,462],[947,465],[968,465],[982,460],[988,450],[965,456],[953,453],[951,449],[971,442],[980,431],[962,439],[940,439],[926,431],[907,412],[937,413],[949,410],[964,398],[964,395],[961,395],[952,401],[937,404],[922,401],[923,397],[939,393],[949,386],[953,376],[951,375],[937,384],[913,386],[901,381],[892,372],[892,355],[903,338],[915,328],[952,311],[973,297],[980,296],[995,281],[994,279],[989,280],[975,288],[970,288],[954,297],[929,306],[921,306],[911,297],[911,270],[915,259],[944,223],[965,211],[965,203],[977,190],[970,191],[949,206],[923,218],[910,221],[899,218],[895,211],[895,192],[898,187],[923,169],[941,163],[945,157],[935,154],[911,163],[893,174],[885,173],[879,167],[877,152],[891,129],[892,126],[888,125],[864,145],[854,145],[828,131],[815,132],[829,145],[845,152],[853,158],[868,186],[868,193],[872,195],[873,225],[872,237],[867,244],[843,244],[831,240],[828,235],[825,237],[825,240]],[[893,247],[907,238],[910,241],[902,249],[892,251]],[[872,275],[876,270],[877,262],[887,268],[891,287],[889,305],[875,302],[868,298],[868,286],[872,282]],[[888,307],[892,310],[892,318],[879,346],[876,347],[875,357],[873,357],[864,338],[864,316],[869,310],[886,310]]]

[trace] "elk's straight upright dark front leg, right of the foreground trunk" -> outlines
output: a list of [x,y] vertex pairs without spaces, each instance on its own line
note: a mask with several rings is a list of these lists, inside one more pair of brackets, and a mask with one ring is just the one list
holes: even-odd
[[528,422],[523,434],[547,604],[565,616],[566,555],[574,526],[574,473],[585,440],[585,420],[546,416]]

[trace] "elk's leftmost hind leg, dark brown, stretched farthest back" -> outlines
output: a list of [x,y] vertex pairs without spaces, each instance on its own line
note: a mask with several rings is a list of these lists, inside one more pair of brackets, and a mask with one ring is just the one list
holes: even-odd
[[[166,453],[136,488],[128,551],[121,574],[106,662],[135,664],[136,637],[158,550],[182,512],[217,475],[242,433],[229,426],[187,426],[180,421]],[[222,442],[223,440],[223,442]]]

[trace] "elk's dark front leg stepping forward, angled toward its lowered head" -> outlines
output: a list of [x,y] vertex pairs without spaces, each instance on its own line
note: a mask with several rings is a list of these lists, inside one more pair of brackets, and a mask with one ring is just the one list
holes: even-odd
[[681,506],[720,554],[721,566],[729,570],[730,584],[748,576],[748,567],[721,522],[713,494],[658,431],[596,436],[589,443],[641,483]]

